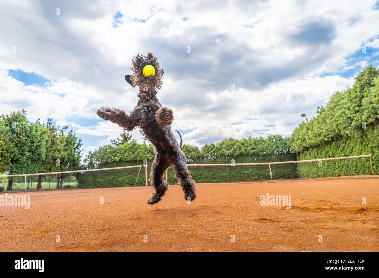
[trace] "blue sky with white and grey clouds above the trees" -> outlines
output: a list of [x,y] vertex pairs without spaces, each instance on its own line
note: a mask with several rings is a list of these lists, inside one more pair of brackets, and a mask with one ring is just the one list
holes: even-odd
[[[164,70],[158,99],[183,143],[291,135],[335,91],[379,65],[376,1],[0,2],[0,113],[69,126],[83,154],[122,128],[102,106],[136,105],[132,56]],[[136,129],[133,138],[143,142]]]

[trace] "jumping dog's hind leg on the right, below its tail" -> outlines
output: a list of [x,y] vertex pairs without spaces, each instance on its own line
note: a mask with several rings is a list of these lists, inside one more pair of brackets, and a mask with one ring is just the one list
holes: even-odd
[[178,160],[175,162],[176,177],[180,180],[184,192],[184,199],[192,201],[196,198],[195,182],[188,172],[186,157],[184,153],[179,150]]

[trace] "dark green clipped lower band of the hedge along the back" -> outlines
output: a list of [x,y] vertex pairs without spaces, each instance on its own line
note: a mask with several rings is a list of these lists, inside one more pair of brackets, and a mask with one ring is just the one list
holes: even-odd
[[[241,155],[238,157],[216,157],[201,158],[201,163],[254,163],[254,162],[276,162],[296,160],[294,154],[286,155],[260,155],[250,156]],[[148,160],[148,176],[150,177],[152,160]],[[113,162],[103,163],[101,168],[143,165],[143,161],[135,162]],[[297,178],[295,164],[272,165],[274,179]],[[139,168],[121,169],[112,171],[84,172],[78,178],[78,187],[117,187],[117,186],[134,186],[138,175]],[[262,166],[205,166],[189,167],[193,179],[197,182],[235,182],[249,180],[267,180],[270,179],[269,168],[267,165]],[[175,184],[178,180],[175,177],[174,168],[168,170],[168,183]],[[142,167],[136,185],[145,185],[145,169]]]

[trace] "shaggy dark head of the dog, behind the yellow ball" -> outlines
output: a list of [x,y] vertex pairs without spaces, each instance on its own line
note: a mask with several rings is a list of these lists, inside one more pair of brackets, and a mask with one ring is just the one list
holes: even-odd
[[[155,68],[155,75],[144,76],[143,68],[146,65],[152,65]],[[161,69],[157,57],[153,53],[149,52],[147,56],[137,54],[132,59],[132,75],[125,75],[125,80],[132,85],[132,87],[138,86],[139,92],[146,93],[151,90],[161,89],[163,69]]]

